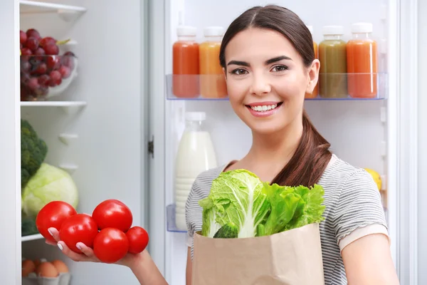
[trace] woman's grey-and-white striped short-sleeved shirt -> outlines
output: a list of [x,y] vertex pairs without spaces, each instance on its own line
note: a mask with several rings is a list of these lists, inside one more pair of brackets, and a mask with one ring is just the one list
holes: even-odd
[[[186,224],[193,257],[193,235],[201,230],[202,208],[198,202],[209,195],[212,181],[226,165],[202,172],[194,181],[186,201]],[[325,220],[320,223],[325,284],[347,284],[341,250],[367,234],[382,233],[388,228],[381,195],[371,175],[349,165],[336,155],[323,173],[319,185],[325,190]]]

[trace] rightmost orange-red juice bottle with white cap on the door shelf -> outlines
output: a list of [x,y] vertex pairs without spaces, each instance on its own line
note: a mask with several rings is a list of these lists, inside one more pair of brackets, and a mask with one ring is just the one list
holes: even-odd
[[353,38],[347,43],[349,95],[374,98],[377,94],[376,41],[370,38],[372,24],[352,24]]

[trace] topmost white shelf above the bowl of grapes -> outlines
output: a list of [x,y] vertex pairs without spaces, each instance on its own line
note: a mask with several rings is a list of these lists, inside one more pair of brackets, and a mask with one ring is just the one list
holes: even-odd
[[19,1],[20,14],[57,13],[64,21],[73,21],[85,13],[86,8],[41,1]]

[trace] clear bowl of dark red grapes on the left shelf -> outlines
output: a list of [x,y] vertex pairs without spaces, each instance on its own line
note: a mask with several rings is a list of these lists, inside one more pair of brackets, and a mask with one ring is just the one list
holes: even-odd
[[20,31],[21,42],[21,101],[48,100],[60,95],[77,76],[78,60],[60,46],[69,40],[42,38],[33,28]]

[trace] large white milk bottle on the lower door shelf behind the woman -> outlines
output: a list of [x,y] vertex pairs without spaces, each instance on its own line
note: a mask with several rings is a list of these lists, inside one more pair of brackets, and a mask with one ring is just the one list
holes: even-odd
[[175,164],[175,222],[176,228],[186,230],[185,204],[197,175],[217,166],[211,135],[204,130],[206,113],[185,114],[186,126],[176,154]]

